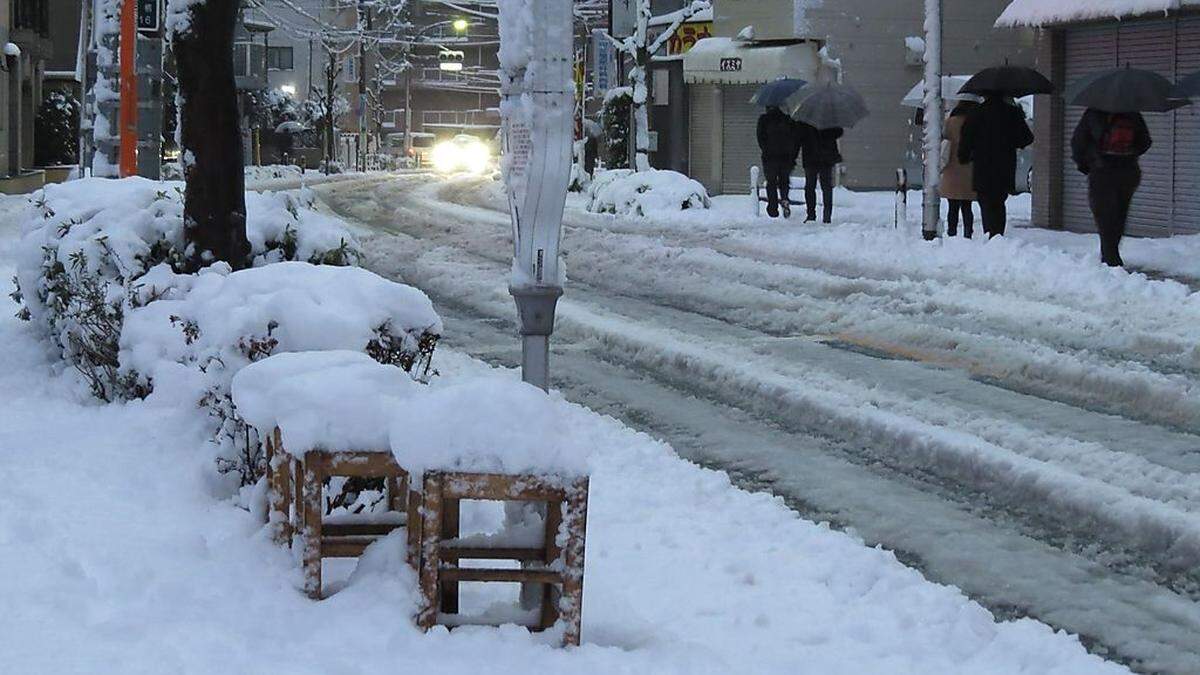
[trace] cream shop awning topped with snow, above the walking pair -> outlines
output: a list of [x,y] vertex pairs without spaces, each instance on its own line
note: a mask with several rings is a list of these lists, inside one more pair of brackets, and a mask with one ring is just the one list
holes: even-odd
[[683,58],[684,82],[755,84],[780,77],[815,80],[820,43],[755,44],[730,37],[706,37]]

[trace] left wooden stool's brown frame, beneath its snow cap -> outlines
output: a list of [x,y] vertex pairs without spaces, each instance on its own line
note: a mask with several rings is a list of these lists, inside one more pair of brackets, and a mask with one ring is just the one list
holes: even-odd
[[[323,489],[332,476],[383,478],[388,510],[392,519],[346,519],[325,522]],[[390,452],[328,452],[310,449],[296,456],[283,448],[278,428],[266,440],[268,524],[272,538],[290,545],[300,534],[304,555],[304,589],[320,599],[320,561],[325,557],[358,557],[371,543],[400,527],[408,528],[408,562],[418,566],[420,546],[420,495],[409,489],[408,472]]]

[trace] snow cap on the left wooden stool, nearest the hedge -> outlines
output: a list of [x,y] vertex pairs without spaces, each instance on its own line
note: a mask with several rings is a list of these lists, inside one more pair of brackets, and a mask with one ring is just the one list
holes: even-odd
[[425,387],[362,352],[294,352],[251,364],[233,378],[246,423],[278,426],[283,447],[386,452],[389,414]]

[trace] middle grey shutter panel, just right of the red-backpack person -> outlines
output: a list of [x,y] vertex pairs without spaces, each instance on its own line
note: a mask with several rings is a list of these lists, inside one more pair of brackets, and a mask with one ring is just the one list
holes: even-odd
[[[1175,80],[1175,19],[1122,24],[1117,65]],[[1154,144],[1141,157],[1141,186],[1129,210],[1129,233],[1166,234],[1174,220],[1175,113],[1145,113]]]

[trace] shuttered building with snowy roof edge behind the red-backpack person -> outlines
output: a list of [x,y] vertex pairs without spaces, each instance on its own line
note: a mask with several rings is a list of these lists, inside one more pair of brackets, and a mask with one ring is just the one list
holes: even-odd
[[[1004,12],[1004,26],[1040,28],[1038,65],[1057,91],[1106,68],[1130,65],[1176,80],[1200,71],[1200,4],[1162,2],[1139,12],[1087,16],[1067,7],[1055,13],[1030,1]],[[1153,10],[1152,13],[1150,10]],[[1094,232],[1087,181],[1070,160],[1070,136],[1084,113],[1061,96],[1038,96],[1034,133],[1033,223]],[[1142,181],[1130,208],[1128,232],[1141,235],[1200,233],[1200,110],[1146,113],[1153,147],[1141,159]]]

